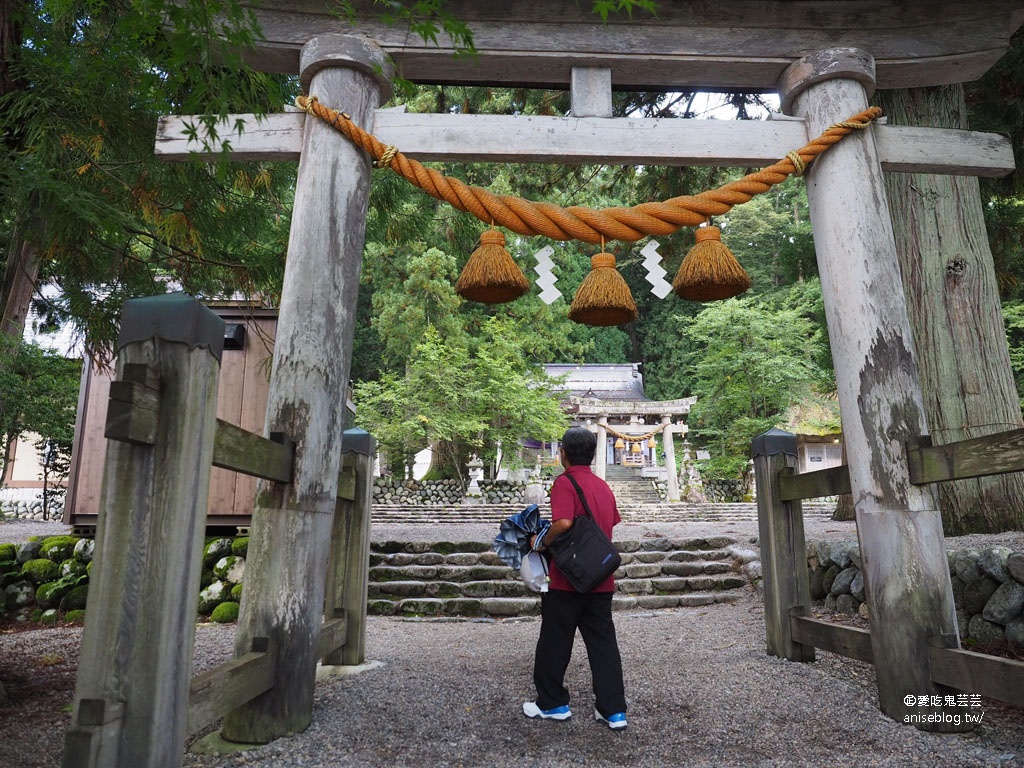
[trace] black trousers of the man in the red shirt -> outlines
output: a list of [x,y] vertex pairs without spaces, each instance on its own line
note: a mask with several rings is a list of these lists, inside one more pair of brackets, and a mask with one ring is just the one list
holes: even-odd
[[626,712],[623,660],[611,621],[611,592],[551,590],[541,595],[541,637],[534,659],[537,706],[551,710],[569,702],[565,670],[580,630],[587,646],[597,711],[604,717]]

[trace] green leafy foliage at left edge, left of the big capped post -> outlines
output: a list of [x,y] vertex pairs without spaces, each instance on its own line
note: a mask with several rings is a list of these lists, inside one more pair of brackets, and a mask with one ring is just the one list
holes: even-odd
[[56,470],[50,479],[59,479],[71,456],[81,373],[81,360],[0,337],[0,477],[11,445],[35,433],[44,466]]

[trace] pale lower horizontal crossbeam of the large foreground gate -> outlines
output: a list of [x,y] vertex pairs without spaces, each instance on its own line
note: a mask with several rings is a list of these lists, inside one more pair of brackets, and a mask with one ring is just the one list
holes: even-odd
[[[232,158],[298,160],[305,117],[298,112],[262,119],[233,116],[231,121],[244,121],[245,132],[231,136]],[[186,138],[193,120],[160,119],[158,157],[180,161],[209,152],[201,140]],[[223,130],[228,128],[225,124]],[[766,166],[808,140],[800,120],[436,115],[395,110],[378,110],[372,130],[381,141],[415,160],[455,163]],[[1005,176],[1015,168],[1010,140],[998,134],[893,125],[878,125],[874,132],[884,170]]]

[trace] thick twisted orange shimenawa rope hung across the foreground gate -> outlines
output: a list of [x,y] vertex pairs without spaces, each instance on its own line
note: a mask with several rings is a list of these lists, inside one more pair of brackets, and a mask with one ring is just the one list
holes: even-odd
[[561,208],[551,203],[531,203],[509,195],[494,195],[445,176],[411,160],[394,146],[355,125],[348,115],[324,106],[315,96],[299,96],[300,109],[329,123],[366,151],[378,165],[388,167],[406,180],[460,211],[471,213],[486,224],[498,224],[525,236],[551,240],[579,240],[598,244],[603,240],[635,241],[647,236],[668,236],[683,226],[697,226],[712,216],[728,213],[804,169],[821,153],[848,133],[866,128],[882,115],[877,106],[864,110],[826,129],[774,165],[755,171],[717,189],[672,198],[662,203],[641,203],[632,208],[595,210],[585,206]]

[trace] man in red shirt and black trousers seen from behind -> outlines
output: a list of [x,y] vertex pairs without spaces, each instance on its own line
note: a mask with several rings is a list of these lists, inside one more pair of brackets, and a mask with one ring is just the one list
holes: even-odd
[[[580,496],[566,476],[569,474],[587,497],[594,521],[611,539],[611,529],[621,522],[621,518],[608,483],[591,471],[596,450],[597,438],[583,427],[572,427],[562,435],[559,455],[565,472],[556,477],[551,486],[551,527],[542,541],[534,543],[535,549],[543,550],[572,527],[577,517],[586,514]],[[613,730],[625,728],[623,663],[615,639],[615,626],[611,621],[614,575],[609,575],[590,592],[572,589],[554,562],[551,563],[550,577],[550,589],[541,595],[541,636],[534,660],[537,700],[523,703],[523,714],[544,720],[568,720],[572,717],[564,680],[579,629],[590,659],[596,705],[594,718]]]

